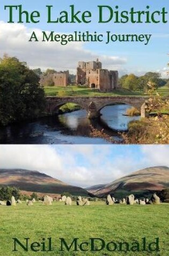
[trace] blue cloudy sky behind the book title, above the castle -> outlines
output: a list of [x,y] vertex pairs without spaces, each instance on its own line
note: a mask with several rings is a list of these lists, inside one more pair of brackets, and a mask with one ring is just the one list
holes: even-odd
[[[9,10],[4,10],[5,5],[22,5],[23,10],[39,11],[39,23],[17,23],[18,11],[13,11],[13,24],[9,24]],[[67,10],[70,13],[69,5],[74,4],[75,10],[89,10],[92,12],[92,22],[89,24],[47,24],[46,5],[53,5],[52,18],[55,20],[60,11]],[[90,61],[99,58],[103,67],[118,70],[120,74],[136,73],[143,74],[147,71],[159,71],[166,77],[168,63],[168,23],[158,24],[98,24],[97,5],[109,5],[114,8],[119,5],[119,10],[129,10],[134,7],[136,10],[146,10],[146,5],[150,6],[150,11],[160,10],[165,6],[168,11],[169,3],[161,1],[135,1],[135,0],[1,0],[0,3],[0,56],[9,53],[16,56],[21,61],[26,61],[32,67],[55,68],[56,70],[69,69],[75,72],[79,60]],[[168,15],[167,15],[167,19]],[[97,31],[113,34],[152,34],[152,39],[148,45],[144,43],[69,43],[61,45],[56,42],[42,43],[28,42],[32,31],[39,36],[42,31],[55,31],[56,33],[74,33],[74,31]]]

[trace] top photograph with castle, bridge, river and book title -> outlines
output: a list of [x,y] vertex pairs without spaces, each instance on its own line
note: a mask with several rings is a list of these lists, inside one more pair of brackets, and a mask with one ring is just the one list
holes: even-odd
[[0,144],[169,144],[168,13],[1,0]]

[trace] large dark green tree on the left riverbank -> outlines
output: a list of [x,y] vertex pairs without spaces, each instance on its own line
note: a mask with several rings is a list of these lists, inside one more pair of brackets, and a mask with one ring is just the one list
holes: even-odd
[[44,108],[38,75],[15,57],[0,59],[0,124],[37,117]]

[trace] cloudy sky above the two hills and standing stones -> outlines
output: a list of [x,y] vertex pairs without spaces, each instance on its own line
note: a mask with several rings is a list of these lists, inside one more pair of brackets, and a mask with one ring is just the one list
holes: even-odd
[[146,167],[169,167],[169,146],[1,145],[0,151],[0,168],[36,170],[83,187]]

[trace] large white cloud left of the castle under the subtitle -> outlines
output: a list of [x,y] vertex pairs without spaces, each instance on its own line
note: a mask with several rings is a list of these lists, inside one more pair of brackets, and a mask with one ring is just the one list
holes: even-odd
[[[89,61],[98,58],[112,67],[126,64],[125,58],[118,56],[98,56],[96,52],[85,50],[85,43],[70,42],[61,45],[56,42],[30,42],[33,29],[28,29],[21,24],[8,24],[0,21],[0,55],[8,53],[16,56],[21,61],[26,61],[28,66],[46,68],[56,68],[60,70],[71,69],[75,71],[77,62],[80,60]],[[34,29],[36,36],[42,38],[42,31]]]

